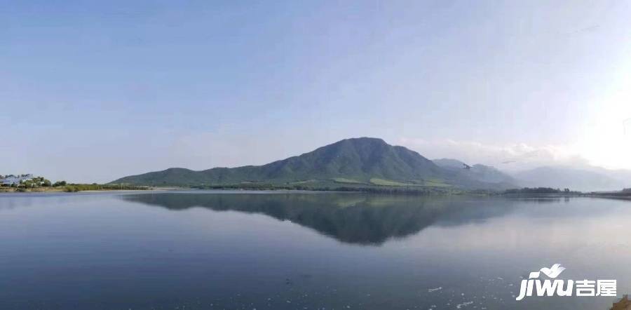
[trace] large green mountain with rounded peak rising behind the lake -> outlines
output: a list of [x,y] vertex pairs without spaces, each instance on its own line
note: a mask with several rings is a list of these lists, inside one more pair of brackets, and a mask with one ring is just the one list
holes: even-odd
[[184,168],[132,175],[111,183],[198,186],[246,183],[337,184],[337,186],[415,186],[496,188],[467,175],[437,166],[415,151],[384,140],[360,137],[341,140],[314,151],[263,166]]

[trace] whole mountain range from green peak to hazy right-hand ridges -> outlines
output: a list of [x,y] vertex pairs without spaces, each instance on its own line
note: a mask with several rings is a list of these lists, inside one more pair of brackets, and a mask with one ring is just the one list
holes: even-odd
[[111,183],[151,186],[221,186],[282,184],[306,187],[433,187],[508,189],[569,188],[580,191],[630,187],[631,173],[600,168],[581,170],[541,167],[510,175],[491,166],[466,168],[456,159],[430,161],[416,151],[384,140],[360,137],[341,140],[314,151],[263,166],[162,171],[122,177]]

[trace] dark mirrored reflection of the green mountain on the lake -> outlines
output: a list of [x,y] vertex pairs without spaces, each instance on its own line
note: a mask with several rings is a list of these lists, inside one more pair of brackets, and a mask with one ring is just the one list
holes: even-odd
[[[506,201],[452,197],[419,198],[366,194],[209,194],[160,193],[121,196],[126,201],[169,210],[200,207],[259,213],[315,229],[344,243],[381,245],[433,224],[454,225],[503,215]],[[535,202],[547,202],[536,200]],[[463,208],[464,207],[464,208]],[[469,208],[466,208],[469,207]]]

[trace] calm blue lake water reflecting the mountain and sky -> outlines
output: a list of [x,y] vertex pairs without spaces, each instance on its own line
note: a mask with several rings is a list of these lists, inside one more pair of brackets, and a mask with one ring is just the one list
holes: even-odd
[[374,194],[0,194],[0,309],[609,309],[522,277],[631,292],[631,202]]

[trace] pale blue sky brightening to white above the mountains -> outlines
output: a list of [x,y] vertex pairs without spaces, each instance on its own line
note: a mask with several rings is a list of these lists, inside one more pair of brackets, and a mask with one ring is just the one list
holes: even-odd
[[631,168],[629,16],[628,1],[11,1],[0,174],[104,182],[359,136],[507,170]]

